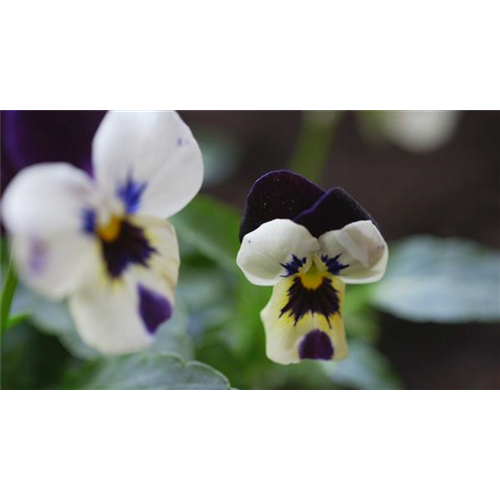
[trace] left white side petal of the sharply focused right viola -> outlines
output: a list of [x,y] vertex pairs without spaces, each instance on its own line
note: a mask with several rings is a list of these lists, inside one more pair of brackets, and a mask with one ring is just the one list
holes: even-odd
[[245,235],[236,262],[251,283],[272,286],[286,275],[283,265],[293,256],[310,266],[309,257],[318,250],[318,240],[304,226],[275,219]]

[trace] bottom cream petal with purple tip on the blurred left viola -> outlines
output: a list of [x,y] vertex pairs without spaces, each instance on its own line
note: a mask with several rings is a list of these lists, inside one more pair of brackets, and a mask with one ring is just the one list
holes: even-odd
[[70,299],[70,311],[83,340],[104,354],[147,348],[156,328],[174,306],[179,248],[173,226],[157,218],[137,216],[156,253],[148,267],[132,266],[119,279],[102,277]]

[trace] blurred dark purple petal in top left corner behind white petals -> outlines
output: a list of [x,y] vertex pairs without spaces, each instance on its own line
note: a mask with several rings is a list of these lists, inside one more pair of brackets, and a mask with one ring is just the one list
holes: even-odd
[[92,171],[92,139],[105,115],[95,110],[7,110],[3,142],[16,169],[64,161]]

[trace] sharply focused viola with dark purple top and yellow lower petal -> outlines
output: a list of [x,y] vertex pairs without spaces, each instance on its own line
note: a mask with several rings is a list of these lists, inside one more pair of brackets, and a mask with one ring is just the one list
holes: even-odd
[[345,283],[378,281],[388,258],[368,212],[341,188],[271,172],[250,191],[240,240],[247,279],[274,287],[261,312],[267,356],[282,364],[345,358]]

